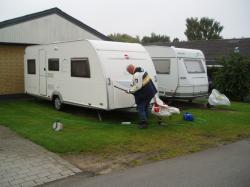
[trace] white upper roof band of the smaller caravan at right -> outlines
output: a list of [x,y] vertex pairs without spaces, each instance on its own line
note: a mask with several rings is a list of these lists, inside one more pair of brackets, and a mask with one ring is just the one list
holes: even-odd
[[145,46],[152,58],[199,58],[204,59],[204,54],[198,49],[185,49],[168,46]]

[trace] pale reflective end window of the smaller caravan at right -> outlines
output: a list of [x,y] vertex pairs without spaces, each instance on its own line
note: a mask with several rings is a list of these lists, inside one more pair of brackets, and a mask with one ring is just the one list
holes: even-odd
[[205,69],[200,59],[184,59],[188,73],[205,73]]

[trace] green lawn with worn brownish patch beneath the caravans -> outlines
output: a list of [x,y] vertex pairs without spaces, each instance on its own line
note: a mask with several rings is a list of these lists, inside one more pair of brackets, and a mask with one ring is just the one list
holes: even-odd
[[[182,109],[182,114],[194,114],[193,122],[184,121],[181,114],[164,119],[167,125],[159,127],[151,116],[149,128],[140,130],[134,125],[134,113],[103,112],[99,122],[91,109],[68,106],[58,112],[47,101],[10,100],[0,102],[0,124],[56,153],[107,157],[146,153],[153,160],[250,137],[250,104],[233,102],[231,107],[215,109],[194,106]],[[63,123],[63,131],[52,130],[55,120]],[[122,121],[133,124],[121,125]]]

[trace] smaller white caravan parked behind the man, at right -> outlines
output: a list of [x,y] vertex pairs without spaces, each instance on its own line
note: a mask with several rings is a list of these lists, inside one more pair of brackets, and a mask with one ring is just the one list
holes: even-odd
[[200,50],[145,46],[157,73],[159,95],[187,98],[208,94],[205,57]]

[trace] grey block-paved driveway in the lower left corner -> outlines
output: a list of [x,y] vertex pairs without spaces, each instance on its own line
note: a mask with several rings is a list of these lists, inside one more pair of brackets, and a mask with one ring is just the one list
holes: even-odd
[[0,187],[36,186],[81,172],[0,125]]

